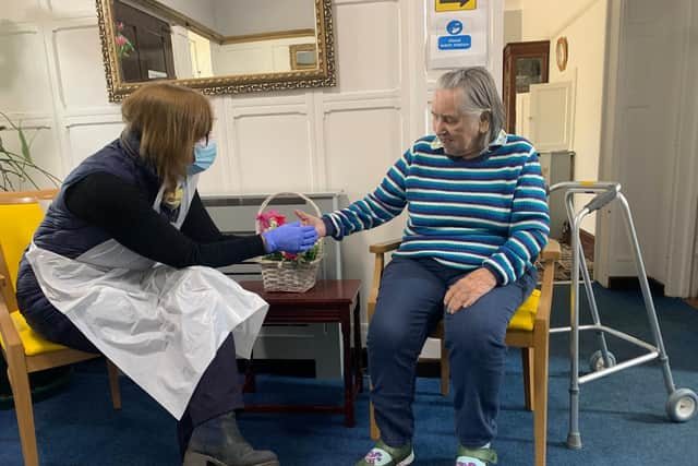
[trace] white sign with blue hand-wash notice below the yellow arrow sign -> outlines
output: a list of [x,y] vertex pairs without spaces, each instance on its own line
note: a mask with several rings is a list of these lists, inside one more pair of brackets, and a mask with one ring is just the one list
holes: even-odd
[[491,0],[477,8],[429,12],[429,68],[452,69],[488,65]]

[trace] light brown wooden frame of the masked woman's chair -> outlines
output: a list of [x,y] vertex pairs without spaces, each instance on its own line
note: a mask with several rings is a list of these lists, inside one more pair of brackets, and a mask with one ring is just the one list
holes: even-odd
[[[37,203],[38,201],[52,199],[56,195],[56,192],[57,190],[41,190],[0,193],[0,205]],[[0,238],[0,243],[1,242],[2,238]],[[84,353],[72,348],[64,348],[33,356],[26,355],[20,334],[14,326],[12,318],[10,316],[11,312],[16,311],[17,302],[14,286],[11,283],[8,264],[5,263],[1,247],[0,290],[0,334],[2,335],[3,340],[2,356],[8,363],[8,377],[10,380],[10,386],[12,387],[12,395],[14,397],[14,407],[16,409],[20,441],[22,443],[22,455],[24,456],[25,466],[38,466],[39,459],[34,427],[29,374],[45,369],[99,358],[101,355]],[[113,408],[121,409],[119,370],[109,360],[107,360],[107,372],[109,375],[109,386],[111,389]]]

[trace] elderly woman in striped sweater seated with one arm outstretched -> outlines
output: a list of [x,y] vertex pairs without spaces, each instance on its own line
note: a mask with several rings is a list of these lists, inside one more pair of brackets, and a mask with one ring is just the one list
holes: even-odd
[[436,134],[417,140],[364,199],[322,218],[297,212],[320,236],[338,240],[408,212],[368,336],[382,439],[357,466],[414,459],[416,366],[441,319],[453,368],[456,464],[496,463],[491,442],[506,327],[533,290],[533,261],[549,234],[538,154],[502,130],[504,108],[485,69],[441,76],[432,119]]

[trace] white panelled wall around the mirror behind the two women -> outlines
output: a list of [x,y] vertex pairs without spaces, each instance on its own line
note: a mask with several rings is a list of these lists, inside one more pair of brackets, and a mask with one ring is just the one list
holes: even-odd
[[[333,3],[338,86],[213,97],[219,156],[202,176],[202,192],[342,190],[354,201],[425,133],[440,74],[425,68],[433,2]],[[489,68],[501,81],[503,0],[490,4]],[[0,111],[27,128],[48,127],[34,155],[64,176],[122,129],[119,106],[107,99],[95,2],[0,0]],[[398,219],[344,241],[344,276],[363,280],[364,302],[368,247],[399,237],[402,226]]]

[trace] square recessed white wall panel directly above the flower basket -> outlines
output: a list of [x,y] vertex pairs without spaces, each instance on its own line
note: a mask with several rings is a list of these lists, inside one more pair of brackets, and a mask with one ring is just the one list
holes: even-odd
[[240,116],[236,119],[234,138],[243,192],[312,188],[305,115]]

